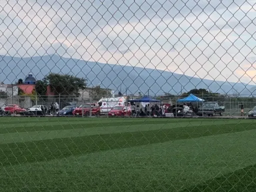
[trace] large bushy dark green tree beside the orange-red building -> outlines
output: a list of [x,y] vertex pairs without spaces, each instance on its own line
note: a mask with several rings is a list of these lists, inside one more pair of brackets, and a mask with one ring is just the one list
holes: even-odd
[[44,82],[50,85],[55,95],[66,95],[66,97],[78,97],[79,90],[86,87],[86,79],[69,74],[50,73],[45,76]]

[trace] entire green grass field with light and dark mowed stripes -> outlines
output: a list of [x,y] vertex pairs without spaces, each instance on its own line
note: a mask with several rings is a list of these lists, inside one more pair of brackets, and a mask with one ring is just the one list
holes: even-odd
[[256,121],[0,118],[0,191],[255,191]]

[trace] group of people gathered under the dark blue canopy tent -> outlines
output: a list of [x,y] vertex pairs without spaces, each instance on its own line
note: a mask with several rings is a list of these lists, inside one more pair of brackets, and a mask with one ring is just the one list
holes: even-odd
[[165,104],[153,104],[151,107],[149,104],[146,104],[144,108],[139,108],[138,105],[131,105],[131,115],[132,116],[162,116],[165,114],[166,106]]

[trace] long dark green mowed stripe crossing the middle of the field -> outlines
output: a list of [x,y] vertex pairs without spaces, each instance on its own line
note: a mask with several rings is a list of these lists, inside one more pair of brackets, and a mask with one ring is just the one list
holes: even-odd
[[[135,119],[133,119],[133,121],[135,121]],[[140,121],[140,119],[138,119],[138,121]],[[122,126],[122,122],[122,119],[120,119],[118,127]],[[0,163],[5,166],[16,163],[47,161],[114,148],[127,148],[178,139],[255,129],[255,125],[251,123],[251,121],[241,120],[231,120],[230,122],[233,124],[226,124],[227,121],[222,121],[222,123],[219,123],[221,121],[216,121],[218,124],[212,124],[212,122],[207,124],[205,122],[206,124],[204,124],[202,121],[194,126],[181,128],[162,128],[161,119],[155,119],[153,122],[154,126],[158,127],[158,129],[108,134],[98,134],[95,131],[94,135],[43,139],[29,142],[15,142],[15,140],[13,140],[12,143],[0,144]],[[136,126],[141,126],[141,124],[137,124]]]

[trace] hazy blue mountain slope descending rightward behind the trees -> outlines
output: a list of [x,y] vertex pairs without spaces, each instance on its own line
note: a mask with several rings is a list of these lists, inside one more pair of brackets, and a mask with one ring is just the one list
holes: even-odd
[[[36,79],[41,79],[49,72],[69,73],[88,79],[88,86],[100,84],[115,90],[121,89],[127,93],[172,94],[188,91],[192,88],[208,88],[213,92],[232,94],[234,89],[239,93],[250,94],[256,86],[227,81],[213,81],[190,77],[163,70],[105,64],[99,62],[70,59],[58,55],[34,57],[11,57],[0,55],[0,81],[11,83],[18,78],[25,78],[32,73]],[[256,93],[256,92],[255,92]]]

